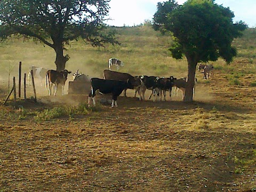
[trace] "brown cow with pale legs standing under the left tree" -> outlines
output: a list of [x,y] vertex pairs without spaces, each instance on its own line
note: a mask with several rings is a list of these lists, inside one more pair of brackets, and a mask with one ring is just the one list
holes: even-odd
[[64,85],[67,81],[68,74],[70,74],[71,71],[68,70],[62,70],[62,71],[56,71],[56,70],[48,70],[46,73],[46,82],[45,82],[45,89],[47,90],[47,87],[49,89],[49,95],[52,94],[52,86],[54,85],[54,96],[57,93],[58,86],[61,85],[61,91],[62,95],[64,95]]

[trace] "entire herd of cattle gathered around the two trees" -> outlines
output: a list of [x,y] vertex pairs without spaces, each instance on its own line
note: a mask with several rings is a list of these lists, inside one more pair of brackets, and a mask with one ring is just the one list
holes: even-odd
[[[136,97],[137,93],[139,94],[139,100],[145,100],[146,90],[151,90],[151,94],[148,99],[153,95],[154,101],[159,99],[162,101],[162,94],[164,96],[163,100],[166,100],[166,91],[169,91],[170,98],[172,87],[174,87],[174,95],[178,95],[178,91],[182,91],[182,100],[185,97],[185,90],[187,87],[187,78],[183,77],[180,79],[170,77],[157,77],[157,76],[132,76],[127,73],[120,73],[118,71],[111,70],[111,66],[115,65],[117,70],[119,67],[123,67],[124,64],[122,61],[116,58],[111,58],[108,60],[109,70],[103,71],[103,78],[91,78],[85,74],[79,74],[78,70],[73,74],[74,82],[90,82],[91,91],[89,93],[88,104],[91,105],[91,100],[93,100],[93,105],[95,106],[95,94],[99,90],[101,94],[112,94],[112,103],[111,107],[117,107],[117,97],[124,91],[124,96],[126,97],[127,89],[134,89]],[[198,71],[203,69],[204,79],[209,78],[209,75],[213,77],[213,66],[212,65],[203,65],[202,63],[198,66]],[[52,86],[54,86],[54,95],[57,93],[58,86],[62,87],[62,95],[65,82],[67,81],[68,74],[71,71],[63,70],[48,70],[42,67],[31,66],[29,69],[28,79],[30,84],[31,73],[33,70],[34,78],[38,78],[41,82],[45,78],[45,88],[49,90],[49,95],[52,94]],[[195,85],[197,79],[195,78]],[[193,98],[195,94],[195,86],[193,89]]]

